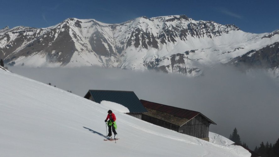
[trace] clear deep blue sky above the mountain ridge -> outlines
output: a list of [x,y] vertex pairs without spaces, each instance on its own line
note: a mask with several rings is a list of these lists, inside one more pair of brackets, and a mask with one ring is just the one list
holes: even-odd
[[235,24],[251,33],[279,29],[279,0],[0,0],[0,29],[45,28],[67,18],[122,23],[140,16],[186,15],[194,20]]

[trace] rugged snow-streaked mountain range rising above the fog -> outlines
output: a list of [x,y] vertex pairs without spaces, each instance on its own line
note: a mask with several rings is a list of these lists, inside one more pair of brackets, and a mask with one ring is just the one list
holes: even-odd
[[246,33],[235,25],[185,15],[139,17],[121,24],[69,18],[48,28],[0,30],[0,58],[30,67],[98,65],[197,75],[202,66],[227,63],[275,42],[279,30]]

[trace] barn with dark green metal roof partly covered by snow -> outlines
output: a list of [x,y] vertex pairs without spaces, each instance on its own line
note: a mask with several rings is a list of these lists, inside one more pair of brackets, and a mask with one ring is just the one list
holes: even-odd
[[84,98],[96,103],[106,100],[121,104],[129,109],[130,113],[127,113],[128,115],[139,119],[141,119],[142,113],[147,112],[133,91],[89,90]]

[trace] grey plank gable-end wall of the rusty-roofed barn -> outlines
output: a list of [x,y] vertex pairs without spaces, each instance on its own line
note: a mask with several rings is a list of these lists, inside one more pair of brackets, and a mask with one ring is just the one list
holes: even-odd
[[197,138],[208,138],[209,125],[205,117],[198,115],[180,127],[178,132]]

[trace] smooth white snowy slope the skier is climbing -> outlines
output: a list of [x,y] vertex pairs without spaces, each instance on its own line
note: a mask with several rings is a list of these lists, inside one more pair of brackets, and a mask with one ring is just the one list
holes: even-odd
[[104,141],[106,106],[0,69],[1,156],[249,156],[119,111],[118,138]]

